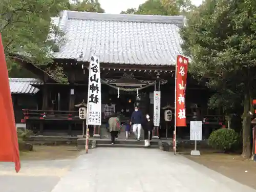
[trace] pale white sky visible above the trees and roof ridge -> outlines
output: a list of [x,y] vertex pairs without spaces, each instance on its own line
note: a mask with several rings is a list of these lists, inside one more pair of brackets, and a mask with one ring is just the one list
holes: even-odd
[[[119,14],[121,11],[125,11],[129,8],[137,8],[140,4],[143,4],[146,0],[99,0],[101,7],[105,10],[105,13]],[[191,2],[199,6],[202,0],[191,0]]]

